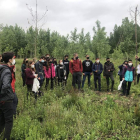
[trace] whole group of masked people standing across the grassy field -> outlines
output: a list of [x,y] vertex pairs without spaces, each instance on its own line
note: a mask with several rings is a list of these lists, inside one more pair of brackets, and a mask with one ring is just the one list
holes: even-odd
[[[136,59],[140,61],[140,58],[137,56]],[[4,139],[7,140],[10,139],[13,115],[16,117],[18,104],[15,93],[15,64],[14,53],[6,52],[2,56],[0,55],[0,134],[5,129]],[[135,78],[135,68],[132,60],[125,61],[119,66],[119,69],[120,81],[123,81],[122,95],[129,95],[131,84]],[[58,64],[56,58],[50,57],[49,54],[40,57],[38,61],[35,59],[29,61],[28,58],[25,58],[21,66],[23,86],[27,85],[28,90],[27,99],[30,93],[34,93],[36,99],[37,95],[43,95],[42,86],[44,82],[46,82],[46,89],[48,89],[50,81],[51,89],[54,88],[54,85],[61,85],[64,88],[69,78],[69,72],[72,74],[72,86],[74,89],[78,86],[78,90],[81,91],[84,88],[86,77],[88,77],[88,86],[90,87],[90,78],[94,75],[95,90],[101,91],[101,74],[103,73],[103,76],[106,78],[107,91],[110,90],[109,79],[111,79],[111,91],[113,91],[114,70],[114,64],[110,62],[110,58],[106,58],[103,66],[99,58],[96,58],[95,63],[93,63],[89,55],[86,55],[86,59],[82,62],[77,53],[74,53],[70,61],[68,60],[68,55],[65,55],[64,59],[59,60]],[[137,73],[137,82],[139,82],[140,64],[137,67]],[[126,86],[127,83],[128,88]]]

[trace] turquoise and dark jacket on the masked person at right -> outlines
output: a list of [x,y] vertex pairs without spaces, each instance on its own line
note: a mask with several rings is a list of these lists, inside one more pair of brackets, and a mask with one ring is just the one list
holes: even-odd
[[133,66],[132,67],[126,66],[123,69],[122,78],[124,78],[124,80],[127,82],[132,82],[135,78],[134,74],[135,74],[135,68]]

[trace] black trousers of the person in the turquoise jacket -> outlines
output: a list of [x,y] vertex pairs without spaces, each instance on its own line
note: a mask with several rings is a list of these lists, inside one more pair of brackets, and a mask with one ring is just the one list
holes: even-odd
[[129,95],[131,84],[132,84],[132,82],[128,82],[128,86],[127,86],[127,81],[125,81],[125,80],[123,81],[123,83],[122,83],[123,95],[126,95],[126,96]]

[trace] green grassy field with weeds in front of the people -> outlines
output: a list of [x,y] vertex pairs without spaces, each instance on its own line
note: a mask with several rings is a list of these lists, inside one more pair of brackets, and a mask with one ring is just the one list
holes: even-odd
[[[115,91],[105,92],[106,81],[102,76],[102,92],[94,91],[93,76],[91,88],[84,93],[74,93],[71,75],[64,91],[56,87],[46,91],[35,102],[26,100],[26,87],[22,87],[21,60],[16,60],[16,93],[19,99],[17,118],[11,134],[12,140],[140,140],[140,86],[132,84],[129,97],[119,96],[118,66]],[[103,61],[101,61],[103,63]],[[135,107],[137,106],[137,107]]]

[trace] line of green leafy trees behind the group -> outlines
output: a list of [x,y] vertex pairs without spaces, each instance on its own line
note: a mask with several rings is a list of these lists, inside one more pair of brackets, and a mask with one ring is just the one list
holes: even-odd
[[[67,34],[60,35],[50,29],[37,29],[37,56],[46,53],[57,58],[64,54],[71,55],[78,52],[80,57],[89,54],[91,58],[108,57],[129,58],[135,54],[135,24],[128,17],[122,20],[120,26],[115,25],[113,31],[107,36],[105,27],[96,21],[93,27],[94,35],[85,33],[84,28],[78,33],[77,28]],[[0,53],[13,51],[19,58],[35,56],[36,29],[32,26],[26,31],[15,26],[0,24]],[[137,27],[138,46],[140,42],[140,27]],[[139,50],[139,48],[138,48]]]

